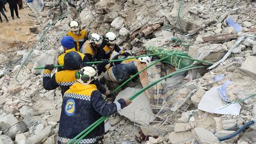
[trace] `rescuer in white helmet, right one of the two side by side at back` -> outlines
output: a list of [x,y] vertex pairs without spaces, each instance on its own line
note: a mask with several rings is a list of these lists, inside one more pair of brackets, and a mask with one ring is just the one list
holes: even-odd
[[123,55],[123,56],[131,56],[130,53],[124,52],[117,44],[116,44],[116,34],[113,32],[108,32],[103,36],[103,42],[101,44],[101,49],[103,53],[100,53],[102,59],[110,59],[113,51]]

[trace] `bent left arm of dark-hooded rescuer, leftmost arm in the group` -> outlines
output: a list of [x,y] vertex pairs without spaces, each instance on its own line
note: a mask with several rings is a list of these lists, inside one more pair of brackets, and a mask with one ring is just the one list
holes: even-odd
[[43,88],[45,88],[45,90],[54,90],[58,87],[59,85],[56,82],[55,74],[51,77],[51,70],[45,69],[43,74]]

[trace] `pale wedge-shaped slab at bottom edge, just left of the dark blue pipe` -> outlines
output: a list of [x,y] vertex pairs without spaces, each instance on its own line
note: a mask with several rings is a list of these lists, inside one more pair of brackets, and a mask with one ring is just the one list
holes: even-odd
[[194,129],[195,134],[197,135],[197,139],[199,143],[205,143],[205,144],[218,144],[220,141],[218,140],[215,135],[213,135],[212,132],[209,130],[197,127]]

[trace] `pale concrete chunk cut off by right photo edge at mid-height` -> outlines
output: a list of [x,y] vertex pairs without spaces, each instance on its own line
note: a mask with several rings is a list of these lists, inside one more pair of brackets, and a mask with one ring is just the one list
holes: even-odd
[[256,78],[256,65],[254,64],[255,61],[255,56],[247,56],[247,59],[245,59],[245,61],[242,63],[242,66],[239,69],[242,70],[244,74]]

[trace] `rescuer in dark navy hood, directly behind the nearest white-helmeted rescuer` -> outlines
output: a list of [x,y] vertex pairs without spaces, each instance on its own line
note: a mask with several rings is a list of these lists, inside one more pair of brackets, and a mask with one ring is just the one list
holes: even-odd
[[[60,72],[56,72],[51,77],[51,71],[54,69],[53,65],[46,65],[44,76],[43,76],[43,88],[45,90],[55,90],[59,86],[61,87],[61,94],[62,96],[64,93],[69,89],[71,85],[77,82],[75,78],[75,72],[79,70],[82,66],[82,58],[76,51],[70,51],[69,53],[65,54],[64,56],[64,69]],[[100,81],[97,79],[95,80],[95,84],[100,90],[101,93],[104,95],[113,98],[114,93],[101,85]]]

